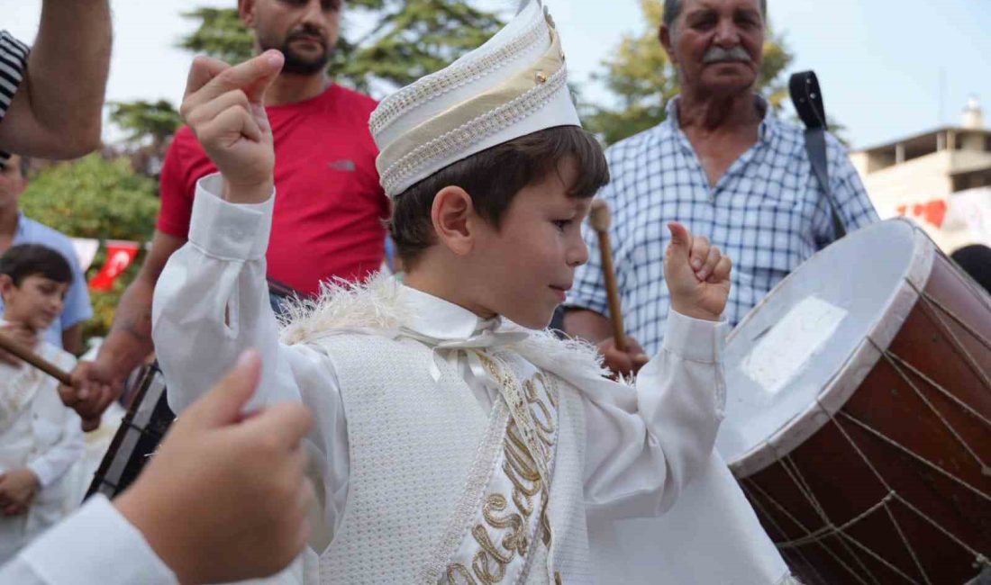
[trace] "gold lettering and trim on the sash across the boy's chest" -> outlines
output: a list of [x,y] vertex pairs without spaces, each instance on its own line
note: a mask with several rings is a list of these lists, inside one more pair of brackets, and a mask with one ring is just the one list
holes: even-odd
[[[542,496],[542,500],[534,536],[539,537],[548,547],[551,542],[550,521],[547,517],[550,486],[545,485],[541,479],[540,466],[532,451],[539,451],[536,456],[542,457],[541,462],[546,468],[556,442],[557,385],[552,377],[543,373],[538,373],[520,385],[505,364],[498,367],[494,361],[483,361],[495,380],[503,385],[514,384],[518,395],[525,401],[525,405],[519,406],[525,406],[529,411],[536,435],[533,438],[535,440],[530,442],[536,443],[537,448],[527,446],[528,441],[522,437],[515,417],[510,417],[505,439],[502,441],[505,456],[502,471],[512,483],[512,495],[506,498],[505,495],[496,493],[486,497],[482,509],[485,524],[478,524],[471,531],[481,550],[472,559],[471,569],[464,563],[448,565],[446,575],[449,585],[495,585],[505,577],[506,566],[517,554],[520,557],[528,554],[532,542],[527,532],[534,512],[533,499],[537,495]],[[509,501],[512,502],[514,511],[509,510]],[[501,538],[496,538],[496,542],[490,536],[490,529],[501,535]]]

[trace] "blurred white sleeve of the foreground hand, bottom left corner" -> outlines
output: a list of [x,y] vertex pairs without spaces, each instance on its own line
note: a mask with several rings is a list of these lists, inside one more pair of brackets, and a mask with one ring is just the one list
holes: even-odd
[[145,537],[98,495],[0,567],[0,583],[172,585],[176,579]]

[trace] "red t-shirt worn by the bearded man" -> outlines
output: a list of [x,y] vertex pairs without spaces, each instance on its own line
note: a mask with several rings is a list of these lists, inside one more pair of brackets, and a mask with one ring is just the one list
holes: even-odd
[[[368,120],[376,102],[331,85],[317,97],[266,108],[275,137],[275,215],[269,277],[312,295],[320,282],[356,280],[385,256],[378,149]],[[168,147],[158,231],[183,243],[196,181],[217,172],[189,127]]]

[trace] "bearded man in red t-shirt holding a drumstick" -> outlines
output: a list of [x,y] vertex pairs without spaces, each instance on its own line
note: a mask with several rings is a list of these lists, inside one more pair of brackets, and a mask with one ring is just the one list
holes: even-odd
[[[267,254],[274,283],[311,295],[329,278],[362,279],[385,254],[388,200],[369,132],[371,98],[330,82],[342,0],[239,0],[255,49],[285,64],[266,92],[275,137],[275,216]],[[201,57],[202,58],[202,57]],[[217,72],[225,65],[212,63]],[[188,127],[176,133],[162,171],[162,211],[152,249],[117,308],[92,362],[72,377],[89,396],[76,410],[95,427],[127,375],[152,352],[152,295],[168,257],[185,244],[196,181],[216,168]]]

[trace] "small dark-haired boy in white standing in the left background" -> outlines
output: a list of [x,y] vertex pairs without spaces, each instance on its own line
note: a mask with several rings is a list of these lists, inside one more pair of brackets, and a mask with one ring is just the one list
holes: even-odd
[[[19,244],[0,256],[3,321],[65,371],[75,358],[42,336],[61,313],[71,282],[68,262],[50,247]],[[55,378],[0,361],[0,563],[78,504],[67,501],[64,478],[82,455],[80,426],[58,397]]]

